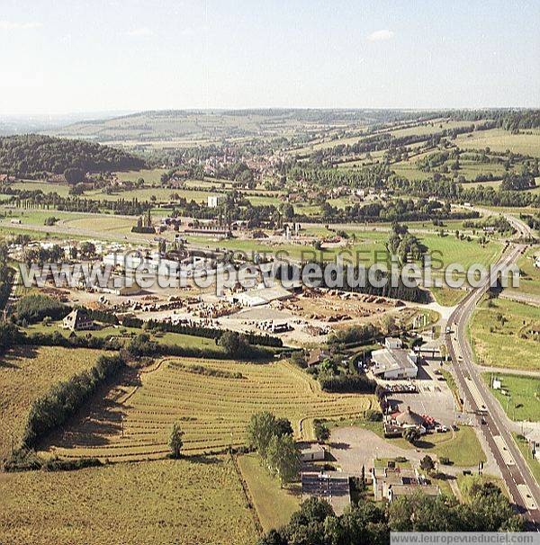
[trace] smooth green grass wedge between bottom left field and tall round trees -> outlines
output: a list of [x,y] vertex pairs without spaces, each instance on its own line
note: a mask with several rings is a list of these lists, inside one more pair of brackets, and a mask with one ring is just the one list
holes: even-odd
[[300,490],[280,486],[279,480],[263,468],[258,455],[246,454],[238,458],[238,466],[247,482],[259,520],[265,532],[280,528],[298,511],[302,500]]

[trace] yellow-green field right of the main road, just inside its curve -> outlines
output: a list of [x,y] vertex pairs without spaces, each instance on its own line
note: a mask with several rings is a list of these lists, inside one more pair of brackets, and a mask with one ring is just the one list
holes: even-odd
[[506,299],[484,300],[470,323],[478,362],[509,370],[540,370],[538,340],[530,334],[539,326],[538,308]]

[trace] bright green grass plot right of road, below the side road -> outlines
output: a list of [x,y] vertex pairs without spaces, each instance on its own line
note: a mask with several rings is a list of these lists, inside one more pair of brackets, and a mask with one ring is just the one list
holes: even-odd
[[540,379],[518,375],[500,375],[483,373],[482,378],[491,388],[491,378],[501,381],[502,390],[509,392],[507,396],[501,389],[491,389],[491,393],[500,402],[500,406],[512,420],[540,421]]

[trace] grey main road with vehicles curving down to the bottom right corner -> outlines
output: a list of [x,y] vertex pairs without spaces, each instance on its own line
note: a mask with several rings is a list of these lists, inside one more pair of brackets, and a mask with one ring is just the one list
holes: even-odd
[[[518,237],[531,235],[530,229],[518,219],[509,216],[509,221],[518,229]],[[511,244],[500,259],[500,264],[513,264],[527,246]],[[536,483],[518,446],[509,431],[508,423],[500,415],[498,401],[484,384],[480,368],[473,363],[473,352],[467,339],[467,323],[474,308],[489,289],[489,281],[471,291],[455,308],[448,319],[452,333],[446,334],[446,346],[455,365],[455,373],[464,394],[465,407],[477,414],[488,446],[509,487],[509,492],[532,527],[540,530],[540,487]],[[481,413],[484,415],[482,416]]]

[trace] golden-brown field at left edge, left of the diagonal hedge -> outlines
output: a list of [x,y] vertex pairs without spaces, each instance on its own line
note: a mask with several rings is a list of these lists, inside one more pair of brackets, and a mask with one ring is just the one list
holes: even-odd
[[34,399],[94,365],[100,351],[21,346],[0,359],[0,460],[17,446]]

